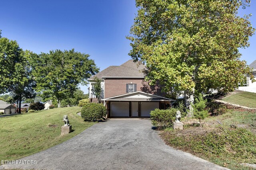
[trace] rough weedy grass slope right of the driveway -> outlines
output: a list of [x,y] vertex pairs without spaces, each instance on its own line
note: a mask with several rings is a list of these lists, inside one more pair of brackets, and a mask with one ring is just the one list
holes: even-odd
[[[229,109],[225,114],[204,119],[203,127],[194,124],[196,121],[185,119],[183,131],[166,129],[160,135],[168,145],[220,166],[232,170],[253,169],[241,163],[256,164],[255,110]],[[247,128],[230,127],[237,124],[245,124]]]

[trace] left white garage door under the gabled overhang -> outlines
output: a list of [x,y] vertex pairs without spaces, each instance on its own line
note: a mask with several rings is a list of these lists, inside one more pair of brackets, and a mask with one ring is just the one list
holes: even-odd
[[110,116],[129,117],[129,102],[111,102]]

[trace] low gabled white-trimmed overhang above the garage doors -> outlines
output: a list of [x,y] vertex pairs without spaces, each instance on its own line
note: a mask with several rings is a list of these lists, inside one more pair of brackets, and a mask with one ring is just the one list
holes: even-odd
[[114,96],[111,98],[105,98],[102,99],[103,101],[156,101],[156,102],[161,102],[161,101],[168,101],[168,102],[175,102],[176,100],[169,99],[169,98],[164,98],[162,96],[157,96],[154,94],[148,94],[145,92],[137,91],[137,92],[132,92],[128,94],[123,94],[120,96]]

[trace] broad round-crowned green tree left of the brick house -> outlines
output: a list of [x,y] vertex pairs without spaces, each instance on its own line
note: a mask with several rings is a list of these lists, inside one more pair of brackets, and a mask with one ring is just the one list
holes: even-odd
[[74,49],[32,55],[30,61],[33,63],[36,91],[44,99],[56,98],[58,107],[62,100],[74,96],[78,84],[87,84],[87,78],[99,71],[88,54],[76,52]]

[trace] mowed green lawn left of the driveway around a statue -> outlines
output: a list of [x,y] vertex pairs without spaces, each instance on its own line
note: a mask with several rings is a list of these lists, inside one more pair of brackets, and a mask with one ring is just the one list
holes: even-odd
[[[76,115],[81,107],[63,107],[0,118],[0,160],[16,160],[78,135],[94,123]],[[60,136],[68,115],[72,133]]]

